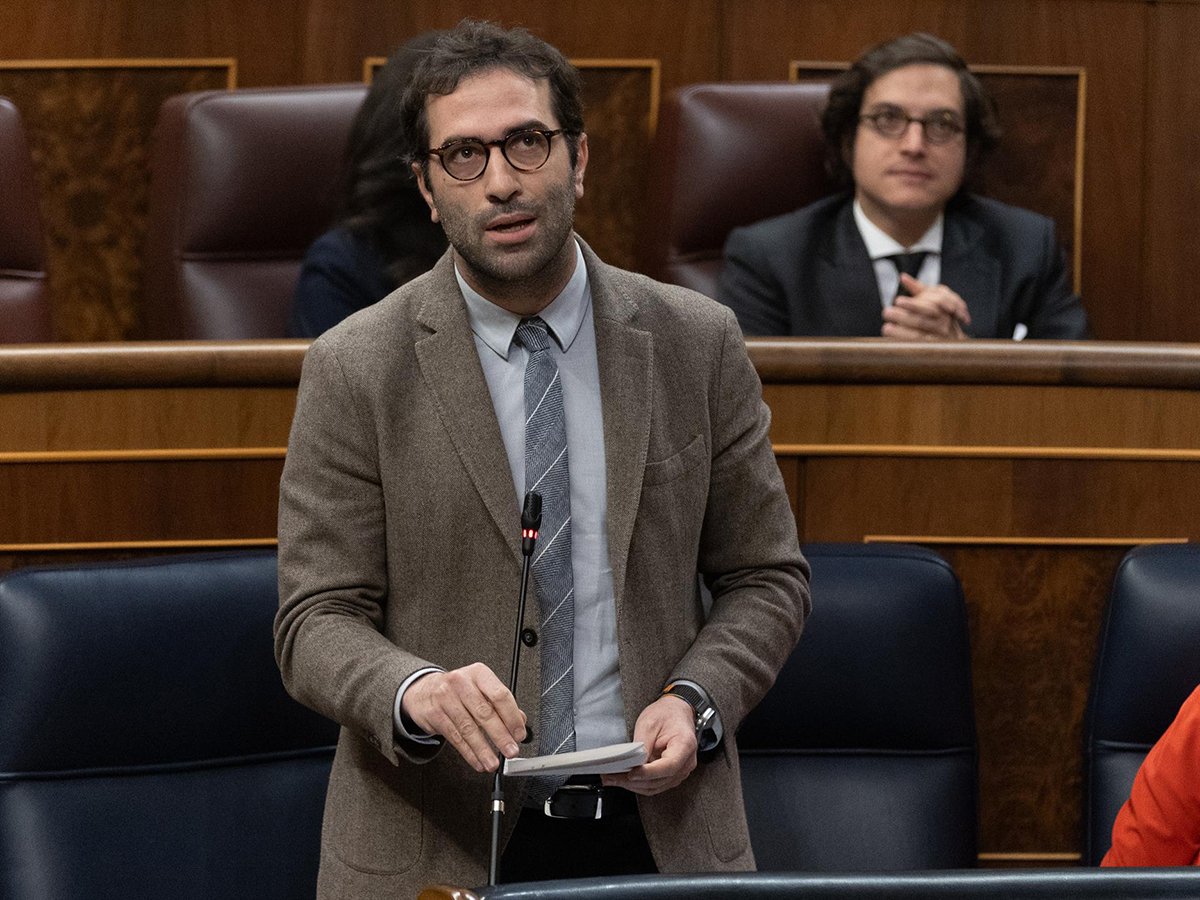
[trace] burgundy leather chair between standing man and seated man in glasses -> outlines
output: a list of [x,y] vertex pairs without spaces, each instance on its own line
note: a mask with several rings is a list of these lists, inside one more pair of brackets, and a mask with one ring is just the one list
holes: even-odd
[[642,268],[714,296],[731,230],[834,190],[824,84],[692,84],[667,96],[649,173]]

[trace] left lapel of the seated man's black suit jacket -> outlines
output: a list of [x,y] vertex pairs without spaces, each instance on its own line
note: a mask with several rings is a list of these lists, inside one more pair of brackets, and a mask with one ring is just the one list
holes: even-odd
[[818,314],[815,335],[877,337],[883,330],[883,305],[875,266],[854,224],[847,200],[817,252],[814,274]]

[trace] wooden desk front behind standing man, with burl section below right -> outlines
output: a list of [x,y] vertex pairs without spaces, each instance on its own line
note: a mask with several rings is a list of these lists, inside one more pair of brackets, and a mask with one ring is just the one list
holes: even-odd
[[[0,348],[0,571],[272,544],[305,347]],[[983,862],[1078,860],[1112,572],[1133,544],[1200,540],[1200,348],[750,353],[802,538],[925,544],[962,580]]]

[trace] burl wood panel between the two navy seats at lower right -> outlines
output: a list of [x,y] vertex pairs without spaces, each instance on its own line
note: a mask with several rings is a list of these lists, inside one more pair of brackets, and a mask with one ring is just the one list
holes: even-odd
[[1129,547],[934,546],[962,581],[984,865],[1072,862],[1084,712],[1105,596]]

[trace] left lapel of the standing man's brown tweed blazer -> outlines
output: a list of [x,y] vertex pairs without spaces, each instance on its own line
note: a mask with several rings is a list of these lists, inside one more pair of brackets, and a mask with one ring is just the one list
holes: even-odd
[[512,473],[450,253],[433,269],[418,318],[432,331],[416,342],[421,376],[437,400],[463,468],[520,560],[520,510]]

